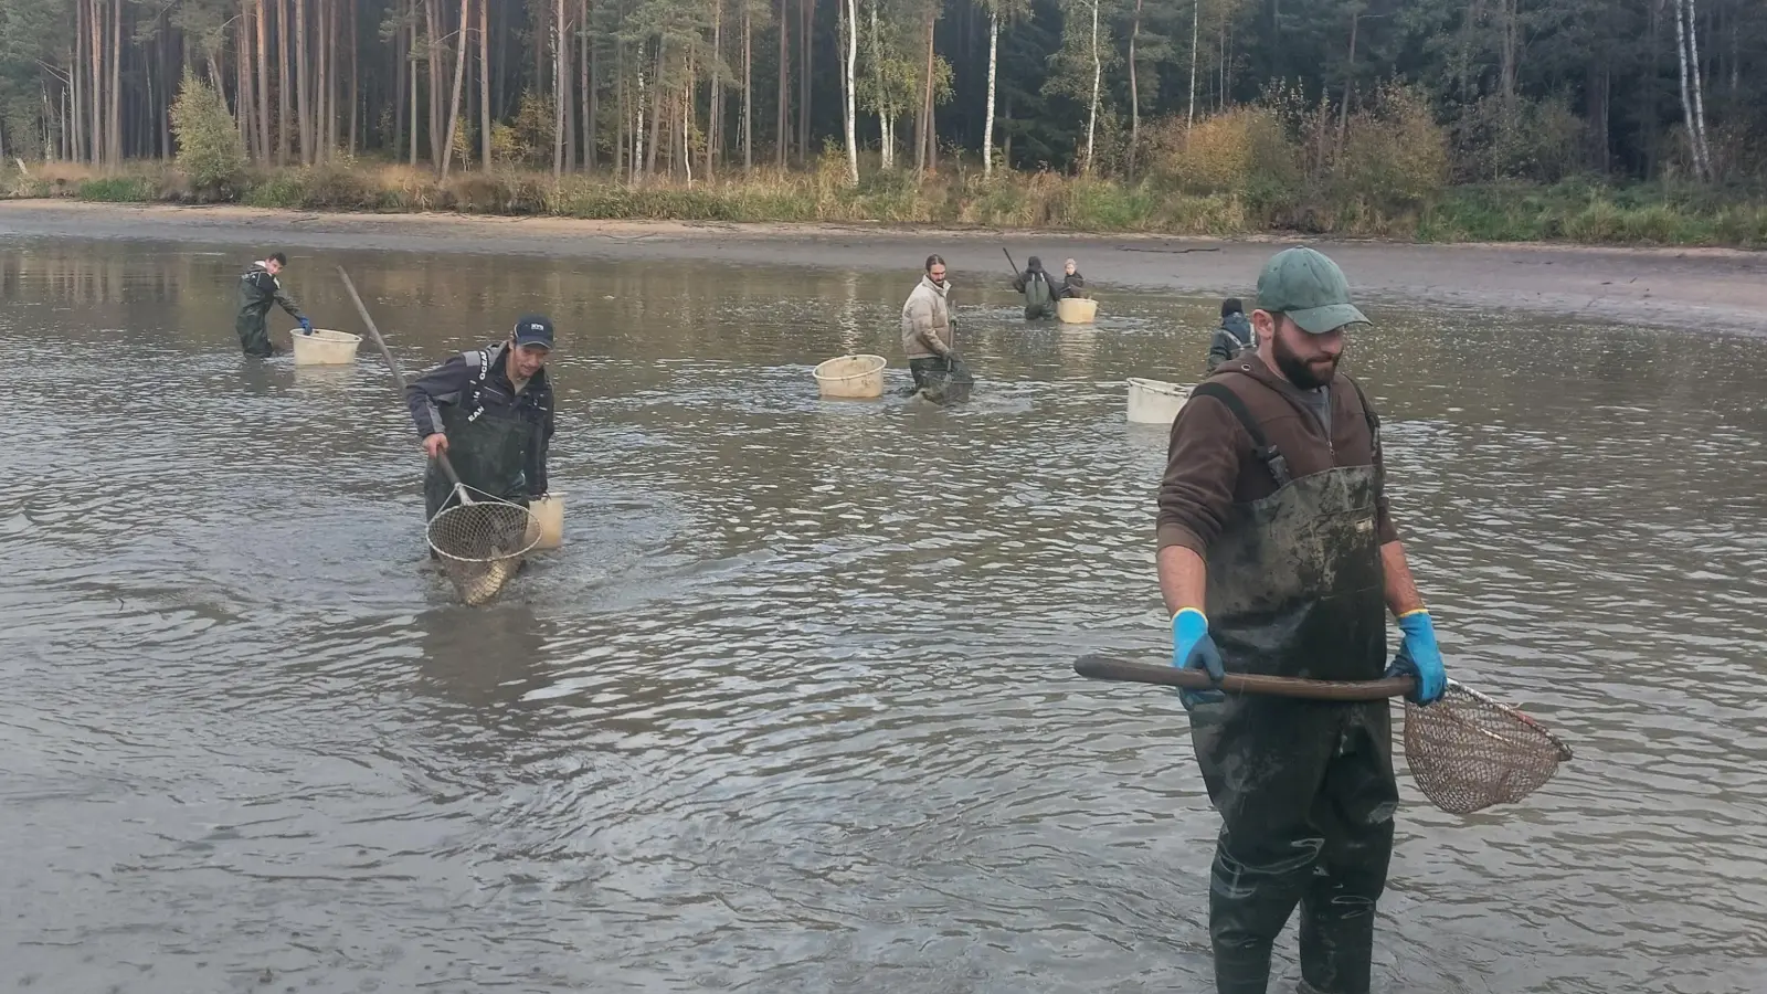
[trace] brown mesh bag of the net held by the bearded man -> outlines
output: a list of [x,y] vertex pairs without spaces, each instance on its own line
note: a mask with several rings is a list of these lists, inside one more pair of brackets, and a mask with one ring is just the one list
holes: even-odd
[[1571,750],[1532,718],[1458,683],[1428,707],[1405,704],[1405,762],[1444,812],[1520,801],[1567,759]]

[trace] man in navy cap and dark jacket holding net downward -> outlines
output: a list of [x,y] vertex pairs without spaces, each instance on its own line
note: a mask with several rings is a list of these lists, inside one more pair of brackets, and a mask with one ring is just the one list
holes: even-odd
[[474,490],[521,506],[546,495],[551,348],[551,320],[523,315],[504,341],[452,356],[406,387],[405,401],[429,455],[424,520],[454,504],[454,485],[436,463],[442,453]]

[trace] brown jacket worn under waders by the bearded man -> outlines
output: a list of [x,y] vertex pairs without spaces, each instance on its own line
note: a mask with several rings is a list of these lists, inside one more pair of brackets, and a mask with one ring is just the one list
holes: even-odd
[[[1223,363],[1207,382],[1223,384],[1246,403],[1265,439],[1301,479],[1348,465],[1375,465],[1384,474],[1375,437],[1355,386],[1343,373],[1331,384],[1331,437],[1308,409],[1301,391],[1272,371],[1256,352],[1240,352]],[[1159,481],[1159,548],[1182,545],[1203,561],[1209,543],[1221,534],[1233,504],[1249,504],[1276,493],[1276,479],[1253,455],[1251,435],[1225,403],[1193,396],[1172,423],[1166,474]],[[1398,541],[1387,513],[1385,486],[1375,506],[1380,543]]]

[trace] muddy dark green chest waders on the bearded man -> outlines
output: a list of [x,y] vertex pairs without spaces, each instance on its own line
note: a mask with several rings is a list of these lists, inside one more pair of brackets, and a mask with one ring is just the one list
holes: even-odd
[[[1225,384],[1196,393],[1233,409],[1279,485],[1235,506],[1209,548],[1209,631],[1226,669],[1380,677],[1375,467],[1288,479],[1281,455]],[[1228,697],[1191,711],[1191,741],[1221,814],[1209,883],[1216,990],[1265,994],[1270,944],[1299,904],[1306,987],[1366,994],[1398,805],[1387,702]]]

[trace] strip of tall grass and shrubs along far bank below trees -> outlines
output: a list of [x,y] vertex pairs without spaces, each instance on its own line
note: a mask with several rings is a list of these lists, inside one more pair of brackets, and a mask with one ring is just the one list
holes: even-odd
[[1249,235],[1304,232],[1426,242],[1562,241],[1578,244],[1767,246],[1767,196],[1751,189],[1596,180],[1444,187],[1417,202],[1384,203],[1354,189],[1196,193],[1172,182],[1122,182],[1055,173],[871,172],[852,189],[838,164],[756,172],[694,184],[617,182],[519,170],[461,172],[440,180],[403,164],[329,163],[251,172],[228,196],[198,196],[171,164],[131,163],[117,173],[41,163],[0,173],[0,196],[104,203],[233,202],[302,210],[518,214],[581,219],[724,223],[880,223]]

